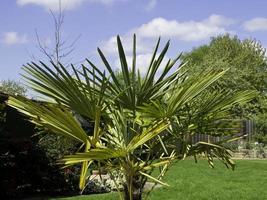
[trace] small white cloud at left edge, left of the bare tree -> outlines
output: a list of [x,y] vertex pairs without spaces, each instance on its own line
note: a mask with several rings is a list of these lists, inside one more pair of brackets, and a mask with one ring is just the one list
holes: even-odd
[[17,32],[6,32],[1,37],[1,42],[7,45],[24,44],[27,41],[26,35],[19,35]]

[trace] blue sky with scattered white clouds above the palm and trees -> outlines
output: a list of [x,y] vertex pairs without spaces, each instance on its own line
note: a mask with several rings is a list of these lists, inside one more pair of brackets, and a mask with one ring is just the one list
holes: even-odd
[[[116,35],[122,37],[131,56],[132,35],[137,34],[138,64],[145,66],[159,36],[171,39],[168,57],[209,42],[219,34],[252,38],[267,47],[266,0],[61,0],[64,9],[62,39],[69,44],[77,37],[68,61],[95,61],[100,47],[117,65]],[[42,44],[52,47],[53,19],[58,0],[0,1],[0,80],[20,80],[21,66],[44,60]]]

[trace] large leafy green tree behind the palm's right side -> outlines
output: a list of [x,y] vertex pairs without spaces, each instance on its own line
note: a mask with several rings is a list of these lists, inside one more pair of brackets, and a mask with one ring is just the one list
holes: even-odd
[[[182,57],[188,62],[185,67],[188,74],[199,76],[205,70],[223,70],[229,68],[210,92],[231,89],[234,92],[246,89],[258,91],[257,97],[245,106],[232,108],[233,116],[252,117],[260,134],[266,135],[263,122],[267,124],[267,60],[266,49],[255,40],[240,40],[237,36],[222,35],[185,53]],[[261,116],[261,117],[259,117]],[[259,124],[257,124],[259,123]]]

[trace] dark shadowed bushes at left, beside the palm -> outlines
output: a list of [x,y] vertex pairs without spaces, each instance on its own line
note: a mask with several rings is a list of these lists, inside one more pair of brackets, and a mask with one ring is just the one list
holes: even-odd
[[73,152],[75,144],[50,134],[31,137],[34,126],[4,103],[0,105],[0,197],[77,194],[79,167],[62,170],[57,164]]

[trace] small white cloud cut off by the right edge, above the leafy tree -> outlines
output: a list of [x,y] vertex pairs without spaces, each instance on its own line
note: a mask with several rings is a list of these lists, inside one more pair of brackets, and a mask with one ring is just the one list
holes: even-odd
[[267,18],[254,18],[243,23],[243,28],[247,31],[267,30]]

